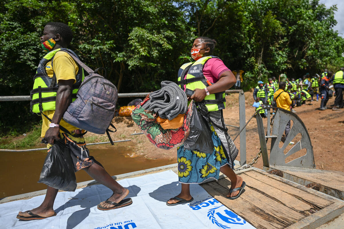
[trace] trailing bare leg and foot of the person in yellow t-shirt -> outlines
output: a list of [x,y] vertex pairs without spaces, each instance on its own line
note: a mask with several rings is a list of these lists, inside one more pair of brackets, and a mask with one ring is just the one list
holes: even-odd
[[[90,175],[97,182],[112,190],[113,194],[109,198],[109,201],[118,203],[129,194],[129,190],[118,184],[117,181],[115,181],[98,162],[84,168],[83,170],[85,170],[88,175]],[[105,201],[101,202],[100,205],[106,208],[114,206],[112,204],[105,203]]]

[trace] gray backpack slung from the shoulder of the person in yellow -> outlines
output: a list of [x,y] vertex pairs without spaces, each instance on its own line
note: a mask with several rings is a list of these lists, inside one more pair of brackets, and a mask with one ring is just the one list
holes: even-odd
[[[114,145],[109,132],[116,131],[116,127],[111,124],[118,99],[116,86],[97,74],[97,69],[93,71],[68,50],[61,51],[70,54],[74,61],[89,73],[79,87],[76,100],[68,106],[64,113],[63,119],[73,126],[95,134],[105,134],[106,132],[111,145]],[[110,130],[109,126],[115,130]]]

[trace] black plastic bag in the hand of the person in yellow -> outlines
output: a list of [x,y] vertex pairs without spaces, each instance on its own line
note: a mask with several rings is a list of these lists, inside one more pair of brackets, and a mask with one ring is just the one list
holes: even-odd
[[46,184],[58,190],[75,191],[76,178],[73,159],[69,149],[61,139],[55,140],[54,145],[50,148],[38,183]]

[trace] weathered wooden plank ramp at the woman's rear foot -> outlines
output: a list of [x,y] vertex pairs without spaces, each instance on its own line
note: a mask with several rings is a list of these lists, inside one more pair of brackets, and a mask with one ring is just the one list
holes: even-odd
[[237,199],[226,198],[230,180],[201,186],[258,229],[314,229],[344,213],[340,199],[251,167],[237,173],[246,182]]

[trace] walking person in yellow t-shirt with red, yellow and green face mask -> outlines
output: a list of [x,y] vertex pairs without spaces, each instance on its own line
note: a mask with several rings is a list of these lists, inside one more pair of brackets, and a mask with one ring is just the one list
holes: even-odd
[[[44,27],[43,36],[41,36],[41,46],[45,51],[56,51],[56,49],[67,48],[72,38],[71,28],[66,24],[50,22]],[[44,115],[42,116],[42,136],[47,141],[49,149],[53,146],[54,141],[62,139],[65,147],[71,154],[75,171],[83,169],[97,182],[111,189],[113,192],[112,196],[106,201],[101,202],[97,206],[98,209],[110,210],[128,206],[132,204],[131,198],[124,198],[129,194],[129,190],[112,179],[103,166],[89,155],[84,137],[77,136],[77,134],[80,134],[80,131],[77,131],[78,128],[69,125],[62,119],[63,113],[72,102],[73,84],[76,82],[78,68],[79,66],[69,54],[63,51],[57,51],[53,58],[53,63],[50,61],[45,65],[45,70],[49,77],[52,77],[53,73],[55,73],[58,90],[56,92],[55,110],[43,112],[51,118],[51,123],[46,120],[46,117],[43,117]],[[61,131],[59,125],[65,127],[70,133]],[[20,211],[17,218],[20,220],[34,220],[55,216],[56,213],[53,205],[57,192],[58,189],[47,186],[43,203],[32,210]]]

